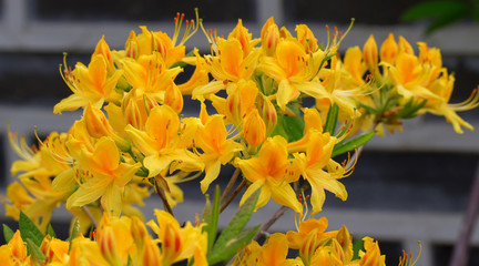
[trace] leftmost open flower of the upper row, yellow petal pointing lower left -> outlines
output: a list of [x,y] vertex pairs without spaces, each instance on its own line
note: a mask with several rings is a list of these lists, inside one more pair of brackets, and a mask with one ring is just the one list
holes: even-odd
[[73,71],[65,70],[64,81],[73,94],[57,103],[53,113],[74,111],[89,103],[101,108],[104,102],[118,101],[119,94],[113,90],[122,75],[122,70],[112,74],[108,72],[108,62],[101,54],[92,57],[88,68],[77,63]]

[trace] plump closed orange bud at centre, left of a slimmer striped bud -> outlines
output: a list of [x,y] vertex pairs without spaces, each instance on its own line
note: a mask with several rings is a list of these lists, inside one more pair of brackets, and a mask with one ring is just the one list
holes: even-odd
[[244,120],[243,135],[252,147],[259,146],[266,139],[266,125],[257,109],[252,110]]

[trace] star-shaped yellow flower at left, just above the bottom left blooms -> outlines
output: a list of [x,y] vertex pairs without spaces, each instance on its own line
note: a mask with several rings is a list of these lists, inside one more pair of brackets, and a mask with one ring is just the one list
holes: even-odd
[[106,213],[119,216],[124,186],[134,177],[141,164],[120,162],[120,152],[110,137],[101,137],[94,152],[82,150],[78,157],[79,168],[86,171],[80,187],[68,198],[67,208],[83,206],[101,198]]

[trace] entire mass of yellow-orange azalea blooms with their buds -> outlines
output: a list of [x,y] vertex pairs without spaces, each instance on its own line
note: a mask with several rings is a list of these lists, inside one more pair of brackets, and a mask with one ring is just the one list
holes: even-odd
[[[198,29],[211,53],[185,52]],[[180,226],[172,208],[183,201],[179,183],[200,180],[206,193],[216,178],[227,178],[220,173],[232,164],[236,172],[213,214],[237,194],[241,208],[251,205],[251,212],[273,200],[306,217],[305,206],[312,206],[297,233],[273,234],[263,246],[251,242],[257,228],[247,231],[234,252],[251,243],[237,253],[235,265],[284,265],[288,248],[299,249],[292,265],[384,265],[376,242],[365,238],[365,250],[353,259],[346,227],[325,232],[327,221],[313,217],[322,211],[325,191],[347,198],[340,180],[351,174],[357,156],[343,163],[335,157],[383,134],[383,126],[394,132],[401,120],[426,112],[444,115],[458,133],[461,126],[472,130],[456,112],[478,106],[479,94],[450,104],[453,76],[441,65],[439,50],[418,43],[416,55],[401,37],[396,42],[389,35],[379,52],[370,37],[363,50],[349,48],[340,57],[349,29],[330,33],[327,28],[327,42],[320,43],[307,25],[296,25],[293,34],[271,18],[257,39],[241,20],[224,38],[205,30],[198,18],[184,21],[179,14],[172,38],[141,27],[123,50],[111,50],[102,38],[88,65],[72,69],[64,60],[60,69],[72,94],[53,112],[82,109],[81,119],[68,132],[39,140],[38,147],[9,133],[21,157],[12,173],[21,174],[7,191],[7,215],[18,219],[24,213],[44,233],[53,209],[64,204],[80,233],[96,227],[92,237],[70,243],[45,237],[40,250],[52,265],[227,260],[216,258],[215,218],[207,218],[212,209],[205,208],[196,226]],[[194,71],[179,82],[185,68]],[[197,116],[182,113],[186,95],[198,101]],[[207,105],[216,112],[210,114]],[[309,188],[310,196],[298,201]],[[135,206],[153,192],[166,211],[155,213],[159,224],[149,223],[157,239],[146,234]],[[241,233],[240,227],[226,232]],[[2,254],[28,260],[24,246],[16,234]]]

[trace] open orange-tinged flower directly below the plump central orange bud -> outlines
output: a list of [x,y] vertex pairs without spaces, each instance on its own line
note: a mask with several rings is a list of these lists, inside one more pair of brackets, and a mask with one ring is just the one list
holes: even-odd
[[298,173],[291,171],[292,164],[286,145],[286,140],[277,135],[264,142],[257,157],[235,160],[243,175],[253,183],[244,193],[240,204],[243,204],[255,191],[261,190],[256,209],[273,198],[276,203],[302,213],[302,206],[289,185],[297,180]]

